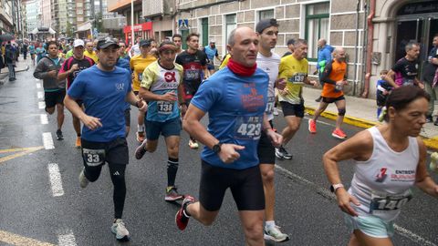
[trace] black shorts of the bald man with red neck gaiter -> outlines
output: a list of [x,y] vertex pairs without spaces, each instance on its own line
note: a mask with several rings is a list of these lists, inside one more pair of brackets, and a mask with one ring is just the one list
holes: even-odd
[[199,201],[203,208],[219,210],[228,188],[238,210],[265,210],[265,193],[258,165],[249,169],[224,169],[202,160]]

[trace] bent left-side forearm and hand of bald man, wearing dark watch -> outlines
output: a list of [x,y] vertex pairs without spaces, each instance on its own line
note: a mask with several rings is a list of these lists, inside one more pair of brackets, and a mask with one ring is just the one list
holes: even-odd
[[[203,127],[203,124],[201,124],[201,118],[203,118],[203,116],[205,116],[205,112],[191,104],[183,118],[183,129],[204,146],[213,149],[214,145],[219,144],[219,140],[214,138],[214,136]],[[224,163],[232,163],[240,158],[240,154],[237,150],[241,149],[245,149],[245,147],[223,143],[218,156]]]

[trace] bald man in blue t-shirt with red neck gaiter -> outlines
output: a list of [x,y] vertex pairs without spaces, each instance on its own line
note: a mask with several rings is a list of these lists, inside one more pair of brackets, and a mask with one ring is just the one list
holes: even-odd
[[[180,230],[190,216],[204,225],[213,223],[230,188],[239,210],[247,245],[264,244],[265,195],[258,167],[261,132],[275,146],[282,137],[265,116],[269,77],[256,68],[258,36],[249,27],[230,33],[227,67],[207,79],[193,97],[183,128],[204,145],[199,201],[186,196],[176,214]],[[205,129],[200,120],[208,113]]]

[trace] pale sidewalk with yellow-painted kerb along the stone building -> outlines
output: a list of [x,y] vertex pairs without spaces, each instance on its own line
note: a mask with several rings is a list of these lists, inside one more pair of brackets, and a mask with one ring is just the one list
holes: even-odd
[[[319,103],[315,101],[319,97],[321,90],[311,87],[303,87],[303,97],[306,110],[310,115],[313,115]],[[345,96],[347,100],[347,113],[344,118],[344,123],[353,125],[359,128],[370,128],[374,125],[381,124],[377,121],[376,116],[376,100],[364,99],[360,97]],[[336,119],[338,109],[334,104],[329,104],[322,117]],[[424,143],[429,149],[438,149],[438,127],[433,123],[424,124],[422,133]]]

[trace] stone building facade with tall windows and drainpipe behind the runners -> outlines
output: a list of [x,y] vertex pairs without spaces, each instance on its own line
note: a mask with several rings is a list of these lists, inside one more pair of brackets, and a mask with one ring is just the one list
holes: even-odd
[[[438,33],[436,0],[180,0],[176,9],[175,31],[183,36],[199,33],[203,46],[214,39],[222,55],[236,26],[255,28],[260,19],[276,18],[280,26],[275,52],[284,54],[289,38],[307,39],[310,74],[315,71],[318,38],[326,38],[329,45],[346,49],[349,94],[363,97],[374,97],[380,70],[404,56],[408,41],[422,44],[424,60]],[[181,20],[188,21],[188,29],[180,30]]]

